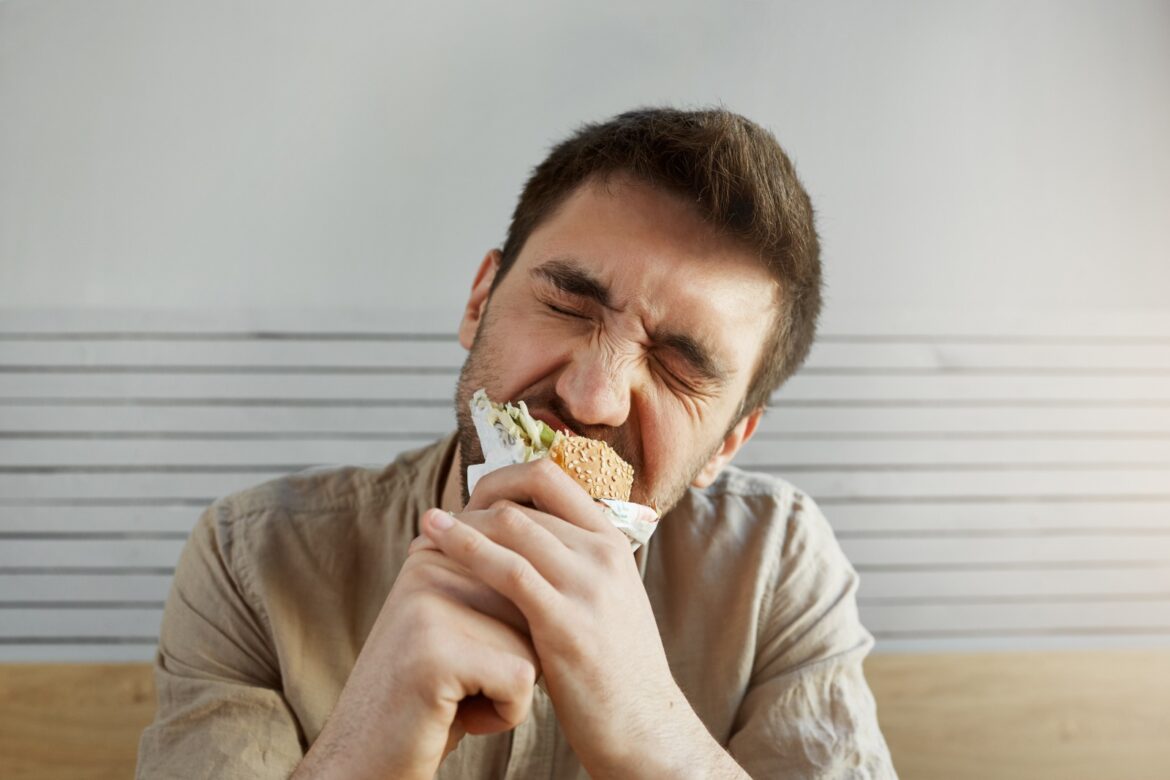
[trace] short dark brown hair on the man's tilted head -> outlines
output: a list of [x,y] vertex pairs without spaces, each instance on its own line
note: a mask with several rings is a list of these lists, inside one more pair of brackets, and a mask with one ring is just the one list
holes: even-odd
[[589,179],[615,174],[686,198],[709,225],[755,251],[779,283],[779,306],[741,412],[765,406],[812,346],[820,243],[808,194],[784,150],[737,113],[645,108],[583,125],[552,147],[524,185],[494,284],[570,194]]

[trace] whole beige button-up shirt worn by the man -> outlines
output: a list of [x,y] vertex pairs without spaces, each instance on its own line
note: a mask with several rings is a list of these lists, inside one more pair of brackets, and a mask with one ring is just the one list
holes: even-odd
[[[448,437],[384,470],[311,470],[215,502],[184,548],[139,778],[284,778],[321,733],[439,504]],[[812,501],[728,468],[636,554],[670,669],[753,778],[892,778],[861,662],[858,575]],[[614,658],[614,663],[621,663]],[[584,778],[539,689],[439,778]]]

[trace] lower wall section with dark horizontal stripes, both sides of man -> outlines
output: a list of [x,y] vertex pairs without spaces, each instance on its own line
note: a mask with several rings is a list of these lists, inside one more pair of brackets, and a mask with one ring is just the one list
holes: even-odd
[[[0,660],[150,658],[209,502],[450,430],[418,322],[0,312]],[[879,649],[1170,644],[1170,317],[826,324],[737,463],[820,504]]]

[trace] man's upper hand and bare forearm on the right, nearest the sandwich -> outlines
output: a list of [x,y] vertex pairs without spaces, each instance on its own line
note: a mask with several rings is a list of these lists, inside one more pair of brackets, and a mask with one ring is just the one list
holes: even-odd
[[494,471],[422,531],[516,605],[557,717],[592,776],[743,776],[674,682],[629,541],[556,464]]

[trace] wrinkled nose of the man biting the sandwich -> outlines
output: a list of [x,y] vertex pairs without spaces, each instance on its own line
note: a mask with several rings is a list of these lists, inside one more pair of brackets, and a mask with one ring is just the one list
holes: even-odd
[[629,416],[632,366],[600,348],[578,348],[557,379],[557,395],[578,422],[617,428]]

